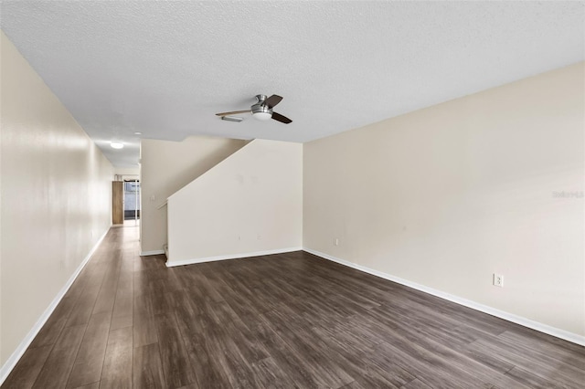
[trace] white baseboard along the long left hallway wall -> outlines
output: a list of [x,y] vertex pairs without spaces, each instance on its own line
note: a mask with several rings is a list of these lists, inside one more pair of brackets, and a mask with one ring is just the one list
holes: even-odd
[[[110,227],[112,227],[112,226],[110,226]],[[40,317],[38,318],[38,320],[35,323],[35,325],[33,326],[33,328],[31,328],[30,331],[28,331],[27,336],[25,336],[25,338],[22,340],[22,342],[20,342],[20,344],[18,344],[18,347],[16,347],[15,352],[13,352],[12,355],[10,355],[10,357],[6,360],[4,365],[2,365],[2,368],[0,368],[0,385],[5,382],[5,379],[8,377],[8,374],[10,374],[10,372],[12,372],[12,369],[15,368],[16,363],[18,363],[18,360],[20,360],[22,355],[27,351],[27,348],[30,345],[30,343],[33,342],[33,340],[37,336],[38,331],[40,331],[40,329],[43,327],[43,325],[45,325],[45,323],[48,321],[48,318],[50,317],[51,313],[53,313],[53,310],[55,310],[57,308],[57,305],[60,302],[60,300],[63,299],[63,296],[65,296],[65,293],[67,293],[67,291],[69,290],[71,285],[73,285],[73,281],[75,281],[75,279],[77,279],[77,277],[80,275],[81,270],[90,261],[90,258],[93,255],[93,253],[95,252],[95,250],[98,247],[100,247],[101,241],[103,240],[104,237],[106,237],[106,235],[108,234],[108,231],[110,231],[110,227],[98,239],[96,244],[93,247],[91,247],[88,255],[85,258],[83,258],[83,260],[81,261],[80,266],[75,269],[75,272],[71,275],[71,277],[69,277],[69,279],[67,280],[67,283],[63,286],[63,288],[61,288],[58,291],[58,294],[57,294],[57,296],[55,296],[55,299],[53,299],[50,302],[47,309],[43,312],[42,315],[40,315]]]

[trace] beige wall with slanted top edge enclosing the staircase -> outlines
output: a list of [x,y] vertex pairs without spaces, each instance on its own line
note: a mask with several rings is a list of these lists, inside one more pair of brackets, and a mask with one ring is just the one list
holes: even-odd
[[169,261],[303,246],[303,144],[255,140],[168,200]]

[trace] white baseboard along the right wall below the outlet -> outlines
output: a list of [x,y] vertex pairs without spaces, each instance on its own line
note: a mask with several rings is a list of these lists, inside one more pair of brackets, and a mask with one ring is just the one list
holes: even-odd
[[479,310],[480,312],[487,313],[489,315],[495,316],[496,318],[504,319],[505,321],[512,321],[513,323],[520,324],[524,327],[530,328],[532,330],[540,331],[547,333],[548,335],[564,339],[565,341],[573,342],[576,344],[580,344],[581,346],[585,346],[585,336],[579,335],[577,333],[565,331],[558,329],[556,327],[549,326],[548,324],[544,324],[538,321],[532,321],[530,319],[524,318],[522,316],[515,315],[514,313],[509,313],[504,310],[497,310],[490,306],[480,304],[478,302],[472,300],[466,300],[458,296],[454,296],[449,293],[445,293],[438,289],[432,289],[429,287],[425,287],[424,285],[417,284],[416,282],[409,281],[408,279],[400,279],[399,277],[392,276],[390,274],[374,270],[373,268],[367,268],[365,266],[357,265],[356,263],[349,262],[345,259],[335,258],[330,256],[329,254],[325,254],[316,250],[312,250],[310,248],[304,247],[304,251],[307,253],[311,253],[317,257],[321,257],[324,259],[328,259],[330,261],[339,263],[341,265],[345,265],[349,268],[355,268],[356,270],[363,271],[365,273],[371,274],[373,276],[377,276],[381,279],[388,279],[390,281],[394,281],[401,285],[410,287],[412,289],[417,289],[423,291],[425,293],[429,293],[433,296],[439,297],[444,300],[452,301],[456,304],[463,305],[464,307],[471,308],[473,310]]

